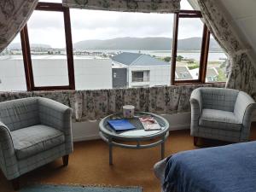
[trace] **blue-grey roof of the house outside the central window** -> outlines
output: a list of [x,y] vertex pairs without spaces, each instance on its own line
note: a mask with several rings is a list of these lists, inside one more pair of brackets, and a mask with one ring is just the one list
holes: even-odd
[[125,64],[126,66],[159,66],[170,65],[166,61],[160,61],[151,55],[123,52],[112,57],[113,61]]

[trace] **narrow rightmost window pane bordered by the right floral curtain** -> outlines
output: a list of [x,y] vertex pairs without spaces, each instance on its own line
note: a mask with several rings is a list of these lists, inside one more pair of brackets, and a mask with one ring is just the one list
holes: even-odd
[[211,35],[207,62],[207,83],[225,82],[227,80],[225,72],[226,61],[227,55],[224,54],[223,49]]

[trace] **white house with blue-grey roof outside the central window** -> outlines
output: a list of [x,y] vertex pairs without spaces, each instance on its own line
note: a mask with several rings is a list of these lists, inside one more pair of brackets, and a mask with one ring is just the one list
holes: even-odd
[[[151,55],[123,52],[114,55],[113,74],[122,77],[122,82],[126,81],[126,87],[152,87],[170,85],[171,64],[166,61],[154,58]],[[122,73],[126,75],[119,75]],[[119,71],[119,72],[118,72]],[[113,76],[113,82],[120,81]],[[115,83],[113,83],[115,84]]]

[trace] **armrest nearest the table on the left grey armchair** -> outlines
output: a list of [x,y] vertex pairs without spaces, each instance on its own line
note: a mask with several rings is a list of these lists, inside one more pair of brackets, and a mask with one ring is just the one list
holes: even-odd
[[65,135],[71,134],[72,108],[48,98],[38,97],[38,110],[41,124],[63,131]]

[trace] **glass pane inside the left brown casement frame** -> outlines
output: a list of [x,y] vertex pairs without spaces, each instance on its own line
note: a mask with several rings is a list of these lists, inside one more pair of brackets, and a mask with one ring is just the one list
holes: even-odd
[[27,27],[35,86],[68,85],[63,13],[34,11]]

